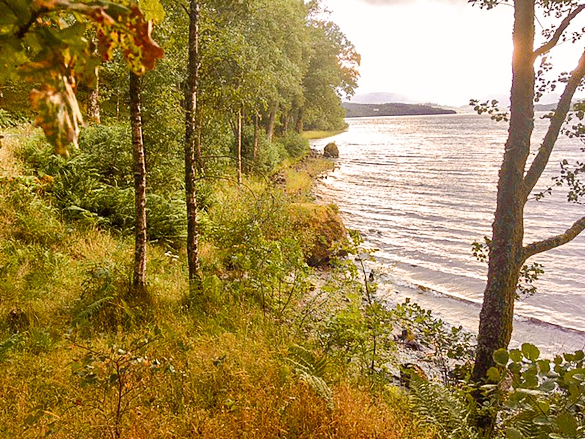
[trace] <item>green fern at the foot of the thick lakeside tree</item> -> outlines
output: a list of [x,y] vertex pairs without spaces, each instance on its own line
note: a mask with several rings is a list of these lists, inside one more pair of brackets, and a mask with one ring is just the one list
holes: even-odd
[[456,390],[411,376],[411,409],[421,420],[434,426],[441,439],[476,439],[479,433],[470,426],[470,412]]

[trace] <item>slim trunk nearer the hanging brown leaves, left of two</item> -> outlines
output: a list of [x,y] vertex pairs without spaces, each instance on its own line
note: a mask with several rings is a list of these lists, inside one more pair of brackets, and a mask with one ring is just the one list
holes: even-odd
[[133,288],[137,297],[146,296],[146,160],[140,114],[141,80],[130,73],[130,125],[134,156],[134,189],[136,204]]

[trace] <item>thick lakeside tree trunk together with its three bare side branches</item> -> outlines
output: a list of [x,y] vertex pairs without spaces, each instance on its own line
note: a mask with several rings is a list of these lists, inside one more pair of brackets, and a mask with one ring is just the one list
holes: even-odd
[[548,131],[534,160],[526,171],[534,128],[534,88],[536,59],[548,53],[560,40],[571,20],[585,5],[570,11],[549,41],[534,49],[535,0],[514,2],[514,55],[510,129],[498,180],[497,206],[490,243],[487,285],[484,291],[472,379],[481,382],[494,366],[493,352],[508,348],[512,335],[514,300],[519,271],[528,258],[572,241],[585,229],[585,217],[562,234],[524,245],[524,206],[549,161],[560,130],[571,108],[571,101],[585,77],[585,52],[565,82]]

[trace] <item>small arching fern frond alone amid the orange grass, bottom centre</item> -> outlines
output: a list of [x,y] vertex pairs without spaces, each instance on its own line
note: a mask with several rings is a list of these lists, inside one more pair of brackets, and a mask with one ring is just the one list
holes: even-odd
[[299,378],[307,383],[315,393],[327,401],[327,406],[333,409],[333,392],[323,378],[327,366],[326,358],[317,358],[313,352],[299,345],[292,345],[288,349],[288,362],[294,367]]

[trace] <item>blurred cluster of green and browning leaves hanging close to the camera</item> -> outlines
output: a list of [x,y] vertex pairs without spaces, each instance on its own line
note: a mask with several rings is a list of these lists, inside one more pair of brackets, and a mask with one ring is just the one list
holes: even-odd
[[[129,68],[142,74],[154,68],[163,49],[152,39],[152,21],[140,9],[108,1],[90,3],[68,0],[5,0],[15,13],[2,16],[0,23],[0,81],[18,72],[42,87],[30,92],[30,101],[38,112],[40,126],[57,153],[68,155],[67,145],[77,148],[81,111],[75,98],[78,78],[91,82],[99,62],[83,37],[85,16],[97,30],[101,59],[111,59],[116,49],[126,57]],[[16,7],[19,6],[19,7]],[[22,6],[22,7],[20,7]],[[150,5],[149,15],[164,16],[160,5]],[[69,25],[61,12],[77,13],[77,22]],[[30,52],[27,53],[26,50]],[[31,56],[31,54],[33,56]],[[30,57],[30,59],[29,59]]]

